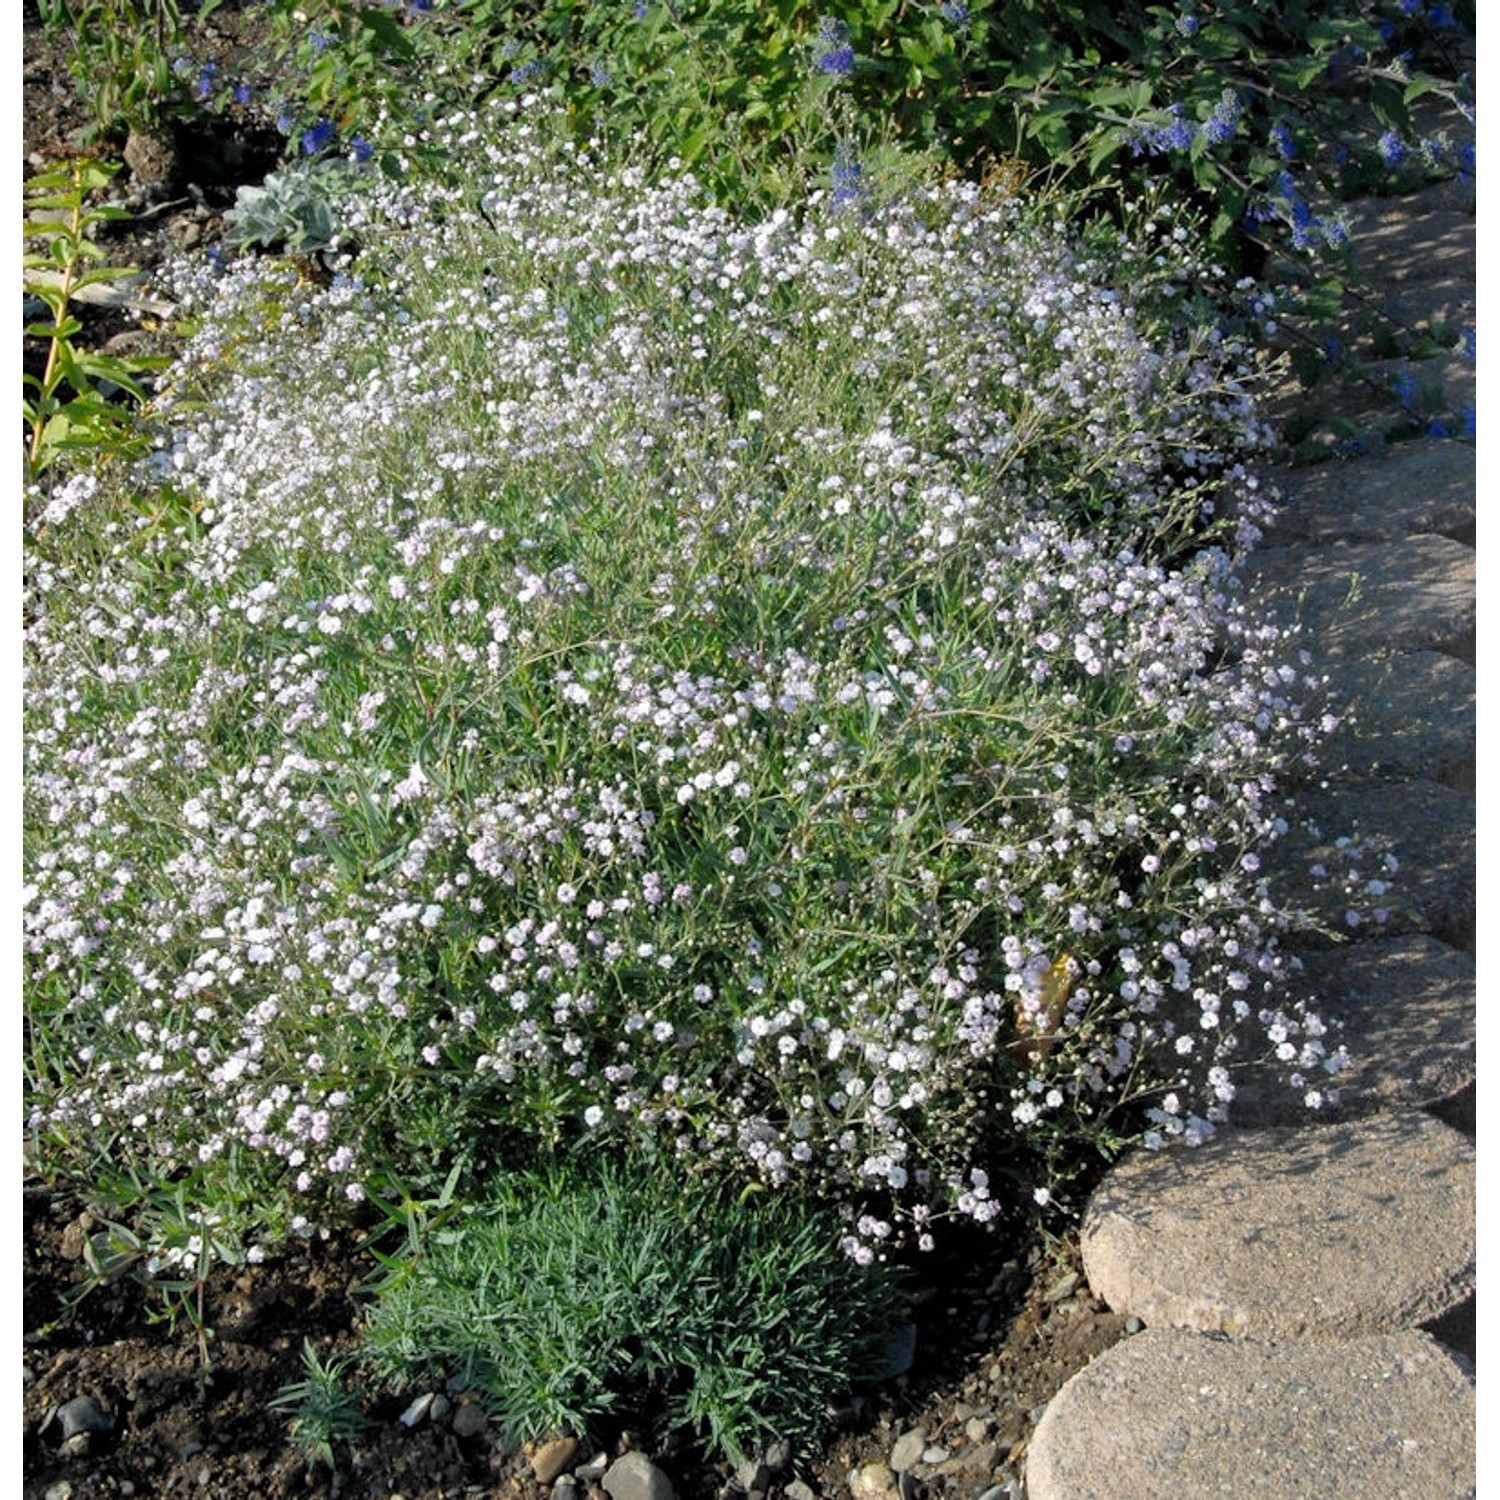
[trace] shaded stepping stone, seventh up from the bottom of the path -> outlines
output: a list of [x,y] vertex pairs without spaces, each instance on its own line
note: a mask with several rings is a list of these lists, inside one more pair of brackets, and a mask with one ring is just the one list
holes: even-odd
[[1286,502],[1266,530],[1269,546],[1424,534],[1464,540],[1474,531],[1474,450],[1443,438],[1292,470],[1278,486]]

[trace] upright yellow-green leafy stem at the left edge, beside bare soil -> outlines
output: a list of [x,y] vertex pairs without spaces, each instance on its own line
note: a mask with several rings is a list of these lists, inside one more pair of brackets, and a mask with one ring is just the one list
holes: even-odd
[[27,480],[64,454],[118,456],[142,444],[132,406],[147,398],[142,376],[165,362],[96,354],[74,342],[82,332],[72,310],[78,294],[134,274],[130,267],[106,264],[92,238],[100,224],[126,216],[123,208],[90,202],[116,171],[114,164],[80,158],[26,184],[27,236],[45,249],[24,256],[22,288],[51,314],[50,321],[26,327],[32,338],[48,340],[42,374],[22,374]]

